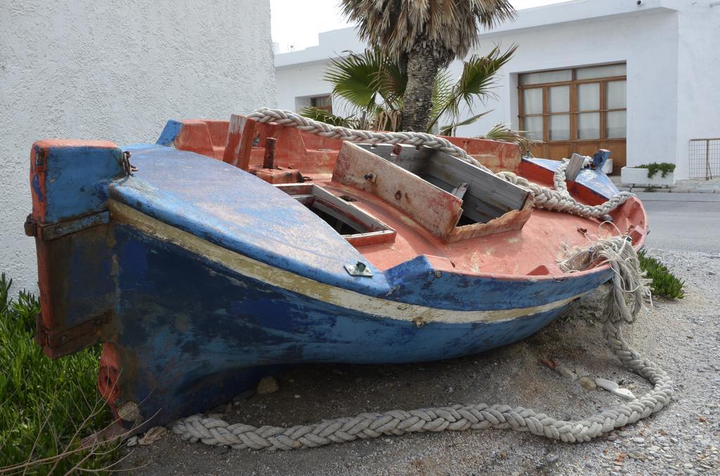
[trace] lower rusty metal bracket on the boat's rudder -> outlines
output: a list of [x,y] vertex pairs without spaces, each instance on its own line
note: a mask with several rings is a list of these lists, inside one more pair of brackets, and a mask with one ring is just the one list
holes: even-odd
[[35,343],[52,349],[54,357],[71,354],[95,344],[99,340],[99,330],[109,322],[110,313],[103,313],[76,326],[50,331],[42,322],[42,313],[37,313]]

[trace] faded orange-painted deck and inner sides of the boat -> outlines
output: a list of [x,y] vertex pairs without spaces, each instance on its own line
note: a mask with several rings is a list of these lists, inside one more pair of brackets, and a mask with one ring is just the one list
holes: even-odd
[[[228,142],[228,121],[184,121],[174,146],[223,160]],[[613,224],[583,219],[565,213],[532,209],[521,229],[500,231],[481,237],[445,242],[438,239],[412,216],[391,203],[359,188],[333,180],[333,168],[342,142],[325,139],[279,124],[254,125],[254,145],[249,151],[249,170],[266,181],[282,183],[283,176],[297,177],[322,186],[335,196],[349,196],[351,205],[394,229],[394,241],[363,244],[357,249],[381,270],[399,265],[418,255],[428,255],[438,270],[454,270],[467,275],[494,275],[517,279],[559,278],[557,260],[567,247],[587,247],[591,240],[628,234],[635,247],[641,247],[647,233],[647,216],[642,203],[631,198],[613,211]],[[273,170],[263,169],[266,139],[277,139]],[[486,165],[499,171],[509,170],[544,186],[552,186],[552,173],[536,170],[523,163],[516,145],[482,139],[449,137],[456,145]],[[227,157],[226,157],[227,161]],[[273,180],[273,176],[278,176]],[[292,180],[295,181],[295,180]],[[579,201],[600,203],[593,191],[570,182],[570,193]],[[502,224],[505,216],[491,221]]]

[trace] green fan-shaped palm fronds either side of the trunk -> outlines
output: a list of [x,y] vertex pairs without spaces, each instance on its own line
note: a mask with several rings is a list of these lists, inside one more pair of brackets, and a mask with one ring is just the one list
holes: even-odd
[[[440,134],[454,135],[457,127],[472,124],[490,112],[461,119],[463,111],[473,114],[477,102],[485,104],[488,98],[497,97],[493,88],[497,85],[498,71],[510,61],[516,50],[516,46],[505,51],[495,46],[485,56],[473,55],[463,63],[462,73],[456,81],[448,70],[440,71],[433,82],[427,132],[445,120],[449,124],[438,127]],[[381,50],[366,50],[360,54],[348,52],[342,58],[331,60],[325,71],[325,80],[333,85],[333,95],[346,101],[353,114],[341,117],[317,108],[304,108],[300,114],[343,127],[401,129],[407,102],[408,70]],[[502,124],[493,127],[486,136],[518,144],[528,143],[521,133],[511,131]]]

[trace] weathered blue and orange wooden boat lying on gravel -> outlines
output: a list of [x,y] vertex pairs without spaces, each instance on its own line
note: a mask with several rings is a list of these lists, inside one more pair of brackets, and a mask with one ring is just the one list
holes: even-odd
[[[559,165],[449,139],[536,183]],[[121,412],[126,426],[205,411],[286,365],[516,342],[611,278],[563,273],[564,247],[620,233],[640,247],[647,228],[636,198],[603,227],[534,209],[524,189],[443,152],[241,116],[170,121],[156,144],[36,142],[30,183],[37,343],[56,358],[103,342],[100,392],[114,411],[140,408]],[[568,188],[589,204],[617,193],[590,169]]]

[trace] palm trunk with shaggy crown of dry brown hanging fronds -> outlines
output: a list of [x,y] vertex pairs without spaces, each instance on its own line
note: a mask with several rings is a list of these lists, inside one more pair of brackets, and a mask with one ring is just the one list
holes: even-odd
[[341,0],[359,36],[407,68],[402,130],[425,131],[438,71],[477,45],[478,24],[515,16],[509,0]]

